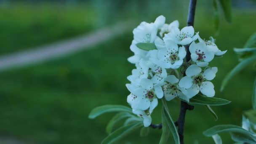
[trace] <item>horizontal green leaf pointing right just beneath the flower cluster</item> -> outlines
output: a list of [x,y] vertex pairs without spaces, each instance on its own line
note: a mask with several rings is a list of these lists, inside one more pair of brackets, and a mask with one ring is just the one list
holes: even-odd
[[229,104],[230,102],[231,101],[228,101],[226,99],[213,98],[213,97],[207,97],[202,95],[194,96],[189,100],[189,103],[191,104],[204,104],[204,105],[210,105],[210,106],[224,105],[224,104]]

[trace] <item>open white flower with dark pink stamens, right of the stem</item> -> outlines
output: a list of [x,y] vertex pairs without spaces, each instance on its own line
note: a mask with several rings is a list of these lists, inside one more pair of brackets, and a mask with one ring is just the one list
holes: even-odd
[[214,58],[214,53],[208,51],[204,41],[199,43],[192,42],[189,45],[189,51],[192,61],[196,62],[199,67],[208,66],[209,62]]

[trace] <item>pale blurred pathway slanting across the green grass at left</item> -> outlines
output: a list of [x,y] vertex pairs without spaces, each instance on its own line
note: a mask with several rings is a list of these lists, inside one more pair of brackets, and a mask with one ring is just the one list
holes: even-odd
[[48,61],[77,51],[92,48],[93,45],[102,43],[117,35],[124,34],[130,29],[131,21],[124,21],[115,24],[112,27],[99,29],[73,39],[0,56],[0,71]]

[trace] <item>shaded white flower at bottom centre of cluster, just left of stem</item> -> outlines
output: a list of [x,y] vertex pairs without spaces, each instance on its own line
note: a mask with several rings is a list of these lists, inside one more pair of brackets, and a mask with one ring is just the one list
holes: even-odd
[[185,88],[180,88],[178,85],[179,79],[174,75],[168,75],[168,77],[165,78],[165,81],[168,82],[163,86],[164,96],[167,101],[171,101],[176,97],[187,102],[189,101],[189,98],[186,96],[188,93]]

